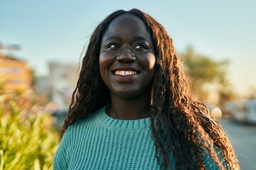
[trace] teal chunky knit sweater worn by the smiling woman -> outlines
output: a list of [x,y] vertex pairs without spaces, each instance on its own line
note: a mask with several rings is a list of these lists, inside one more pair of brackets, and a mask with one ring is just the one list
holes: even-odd
[[[55,153],[53,169],[159,169],[150,118],[117,120],[105,109],[70,125]],[[206,169],[219,169],[207,154]],[[171,164],[175,159],[171,154]]]

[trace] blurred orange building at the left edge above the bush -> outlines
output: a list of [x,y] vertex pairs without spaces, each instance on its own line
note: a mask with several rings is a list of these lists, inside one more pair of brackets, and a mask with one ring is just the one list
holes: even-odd
[[25,91],[31,89],[32,74],[27,62],[0,54],[0,89]]

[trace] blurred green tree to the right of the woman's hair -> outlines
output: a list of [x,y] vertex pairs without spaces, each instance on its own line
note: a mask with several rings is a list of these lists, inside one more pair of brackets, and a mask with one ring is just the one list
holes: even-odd
[[205,55],[196,54],[192,47],[187,47],[186,51],[181,53],[181,59],[191,77],[191,89],[201,101],[213,103],[209,101],[213,91],[214,95],[218,96],[215,104],[223,104],[233,98],[227,77],[228,60],[215,61]]

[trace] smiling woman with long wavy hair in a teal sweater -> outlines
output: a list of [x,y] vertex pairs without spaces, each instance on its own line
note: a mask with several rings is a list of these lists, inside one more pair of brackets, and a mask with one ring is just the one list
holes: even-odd
[[151,16],[107,16],[90,38],[53,169],[239,169],[219,123],[191,95]]

